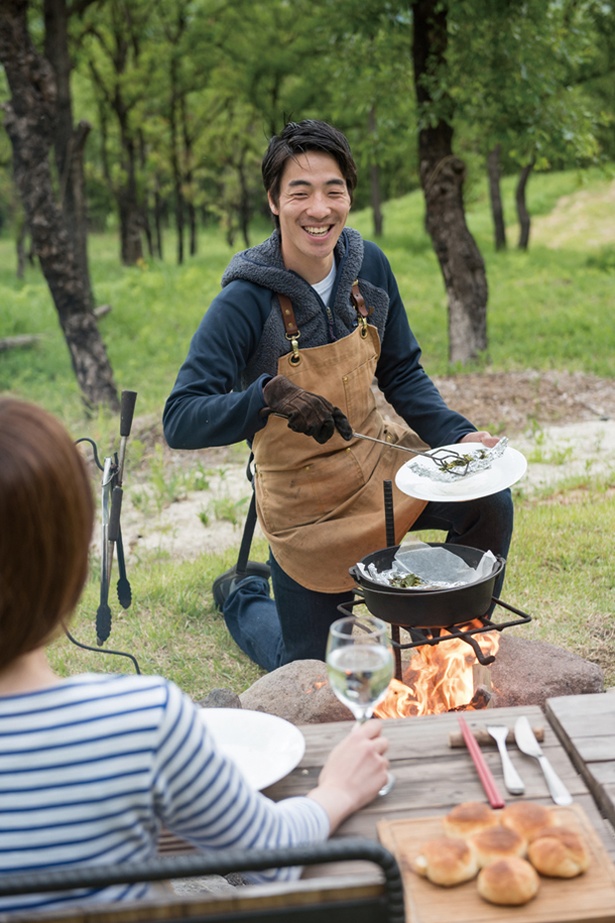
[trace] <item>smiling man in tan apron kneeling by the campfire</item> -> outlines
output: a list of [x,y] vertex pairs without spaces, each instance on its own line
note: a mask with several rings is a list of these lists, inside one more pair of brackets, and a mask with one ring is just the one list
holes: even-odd
[[[357,172],[345,136],[326,122],[290,122],[262,174],[276,228],[231,260],[163,422],[173,448],[252,448],[269,565],[250,562],[241,579],[231,568],[213,594],[237,644],[272,670],[324,660],[337,607],[353,597],[349,567],[386,543],[383,481],[402,462],[354,433],[418,448],[497,438],[445,404],[386,256],[346,227]],[[406,425],[380,414],[374,380]],[[440,529],[448,542],[508,553],[508,490],[426,503],[394,488],[394,513],[397,542]]]

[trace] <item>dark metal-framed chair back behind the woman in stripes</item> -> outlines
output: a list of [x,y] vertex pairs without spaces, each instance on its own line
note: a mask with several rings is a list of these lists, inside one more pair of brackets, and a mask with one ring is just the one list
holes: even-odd
[[115,904],[88,903],[65,909],[12,914],[0,923],[404,923],[399,867],[379,843],[340,837],[287,849],[228,849],[211,855],[184,855],[132,865],[58,869],[0,877],[0,896],[105,887],[119,883],[169,881],[262,871],[294,865],[363,860],[379,867],[380,876],[336,875],[291,883],[246,885],[224,894],[177,895]]

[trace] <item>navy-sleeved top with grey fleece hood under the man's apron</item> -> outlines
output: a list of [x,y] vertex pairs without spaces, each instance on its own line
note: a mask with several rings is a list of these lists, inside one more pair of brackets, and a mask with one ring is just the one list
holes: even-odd
[[[247,440],[266,425],[263,384],[277,374],[290,344],[274,293],[289,295],[301,330],[300,347],[348,336],[356,325],[350,287],[358,278],[370,323],[378,328],[379,388],[406,423],[430,446],[458,442],[475,427],[444,402],[421,365],[397,282],[379,247],[346,228],[335,253],[337,275],[330,305],[296,273],[284,268],[278,233],[233,257],[221,292],[192,338],[163,413],[164,434],[175,449],[199,449]],[[320,393],[327,397],[327,383]]]

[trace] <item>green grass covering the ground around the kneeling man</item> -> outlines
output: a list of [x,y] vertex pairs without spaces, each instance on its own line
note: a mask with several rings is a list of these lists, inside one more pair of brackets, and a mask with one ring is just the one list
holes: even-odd
[[[533,176],[528,205],[536,219],[527,253],[515,249],[514,180],[506,180],[503,188],[510,221],[506,252],[494,252],[485,190],[475,187],[468,206],[468,222],[487,265],[490,292],[488,357],[468,371],[553,368],[614,377],[615,219],[612,202],[608,208],[608,177],[596,171]],[[562,202],[562,197],[570,198]],[[603,236],[589,234],[588,223],[602,229]],[[351,224],[371,237],[368,213],[354,214]],[[266,233],[265,226],[255,229],[253,242]],[[427,371],[449,373],[446,299],[423,229],[420,193],[387,203],[380,243],[397,275]],[[116,239],[94,236],[92,275],[97,302],[112,306],[100,327],[117,386],[138,392],[137,421],[129,443],[128,489],[135,505],[141,504],[144,515],[153,515],[188,490],[202,490],[207,496],[203,527],[213,519],[234,522],[239,543],[244,510],[223,491],[215,496],[208,492],[210,471],[198,454],[187,465],[170,469],[160,441],[164,400],[232,254],[213,230],[202,233],[199,247],[197,257],[177,267],[169,234],[166,262],[126,268],[119,265]],[[102,454],[108,454],[117,420],[105,413],[86,418],[47,287],[32,267],[22,281],[17,280],[14,265],[12,242],[0,240],[0,336],[36,333],[42,340],[32,349],[0,353],[0,389],[47,407],[75,437],[91,436],[99,441]],[[239,459],[245,457],[243,447],[237,453]],[[609,538],[615,533],[613,491],[612,477],[600,481],[589,471],[585,478],[532,498],[517,489],[506,583],[506,600],[533,616],[529,626],[516,630],[595,660],[611,685],[615,684],[615,572]],[[256,543],[253,556],[264,560],[265,553],[264,545]],[[114,605],[113,631],[105,647],[134,654],[143,672],[168,676],[196,699],[217,687],[239,692],[249,686],[261,671],[237,650],[211,598],[213,578],[234,562],[236,554],[235,548],[178,562],[165,552],[161,536],[157,551],[131,555],[127,565],[134,602],[126,612]],[[79,640],[94,646],[96,568],[93,555],[92,575],[73,627]],[[65,638],[54,645],[52,661],[64,675],[131,669],[128,662],[80,651]]]

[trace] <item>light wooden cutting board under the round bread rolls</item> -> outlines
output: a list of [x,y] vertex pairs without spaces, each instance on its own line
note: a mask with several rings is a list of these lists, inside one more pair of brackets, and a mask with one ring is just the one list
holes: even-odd
[[561,824],[580,833],[591,854],[591,864],[577,878],[540,879],[536,897],[521,907],[503,907],[484,901],[476,879],[441,888],[417,875],[409,862],[422,844],[443,836],[442,817],[380,821],[380,842],[396,857],[401,869],[407,923],[615,923],[615,866],[580,805],[556,807]]

